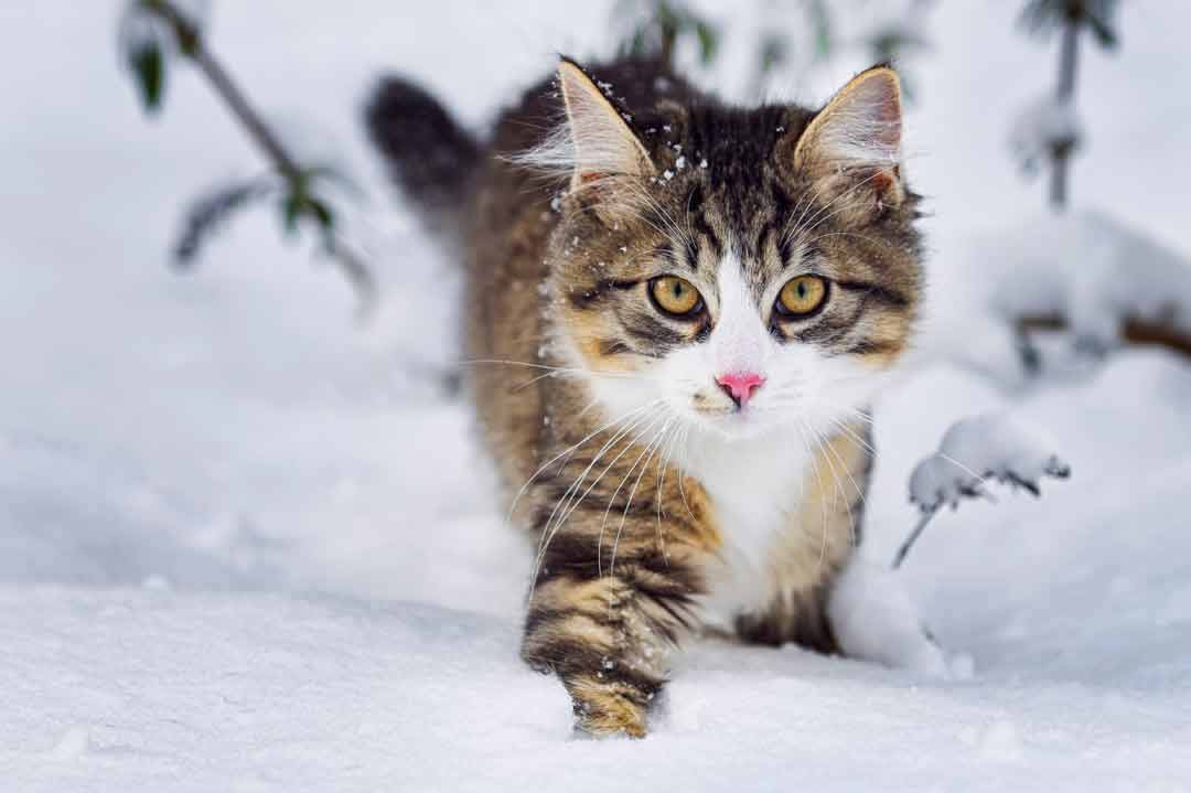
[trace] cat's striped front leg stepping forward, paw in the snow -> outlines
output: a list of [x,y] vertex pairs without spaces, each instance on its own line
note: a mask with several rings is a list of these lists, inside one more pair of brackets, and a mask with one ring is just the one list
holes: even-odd
[[559,675],[580,731],[640,738],[665,683],[667,657],[693,623],[698,582],[690,549],[662,552],[651,522],[648,533],[643,525],[626,526],[613,564],[613,532],[605,532],[600,547],[597,527],[579,524],[547,548],[522,656]]

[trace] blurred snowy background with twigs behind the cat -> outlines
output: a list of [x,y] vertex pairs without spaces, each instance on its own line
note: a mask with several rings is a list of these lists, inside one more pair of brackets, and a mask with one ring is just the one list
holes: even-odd
[[361,112],[400,71],[482,135],[557,52],[626,50],[742,102],[903,70],[930,295],[878,406],[872,552],[960,416],[1019,412],[1075,469],[933,530],[908,575],[944,632],[933,592],[1023,564],[1027,594],[1056,567],[1087,591],[1186,580],[1166,497],[1191,485],[1189,24],[1104,0],[4,4],[0,581],[516,614],[525,555],[457,389],[457,268]]

